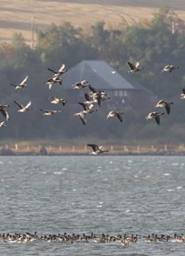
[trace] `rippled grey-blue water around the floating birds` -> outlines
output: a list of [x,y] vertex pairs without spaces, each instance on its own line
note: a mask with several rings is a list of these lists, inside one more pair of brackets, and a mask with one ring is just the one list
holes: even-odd
[[0,233],[138,234],[138,243],[0,242],[1,255],[185,255],[183,156],[0,157]]

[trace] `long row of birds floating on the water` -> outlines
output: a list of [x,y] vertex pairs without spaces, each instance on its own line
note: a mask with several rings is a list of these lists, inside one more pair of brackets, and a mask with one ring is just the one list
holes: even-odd
[[139,236],[138,234],[40,234],[37,232],[31,234],[26,233],[3,233],[0,234],[0,242],[3,243],[118,243],[122,245],[129,245],[130,243],[138,243],[144,241],[147,243],[185,243],[185,235],[181,234],[148,234]]

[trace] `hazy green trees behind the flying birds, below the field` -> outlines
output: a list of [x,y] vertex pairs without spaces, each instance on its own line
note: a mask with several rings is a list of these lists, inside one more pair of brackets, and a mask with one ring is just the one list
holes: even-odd
[[[57,142],[60,139],[63,143],[69,143],[94,137],[106,142],[110,140],[111,143],[118,143],[121,138],[130,143],[145,140],[166,142],[166,139],[181,142],[185,127],[185,102],[180,100],[185,84],[185,23],[176,13],[164,7],[154,13],[152,21],[140,21],[130,26],[122,22],[116,29],[107,28],[104,21],[93,24],[88,31],[64,22],[62,25],[52,23],[45,31],[37,30],[36,33],[34,49],[26,44],[19,32],[13,34],[11,43],[0,45],[0,103],[11,105],[11,120],[6,128],[0,130],[2,141],[26,139]],[[47,67],[58,68],[64,63],[70,68],[83,59],[104,59],[123,76],[129,68],[127,61],[139,60],[144,70],[132,74],[134,79],[159,98],[174,102],[172,117],[165,117],[163,125],[156,128],[154,123],[146,122],[143,112],[130,111],[125,114],[122,126],[111,121],[102,128],[102,116],[106,112],[102,108],[99,115],[90,117],[89,133],[88,128],[81,126],[72,115],[72,111],[79,108],[78,100],[76,106],[66,104],[60,116],[43,117],[39,109],[48,108],[47,98],[50,94],[65,95],[63,85],[57,85],[52,92],[44,85],[50,75]],[[168,64],[180,68],[172,74],[161,74],[163,67]],[[29,86],[23,92],[9,86],[11,82],[21,81],[25,75],[29,75]],[[25,115],[18,113],[13,101],[26,103],[29,100],[32,101],[33,110]]]

